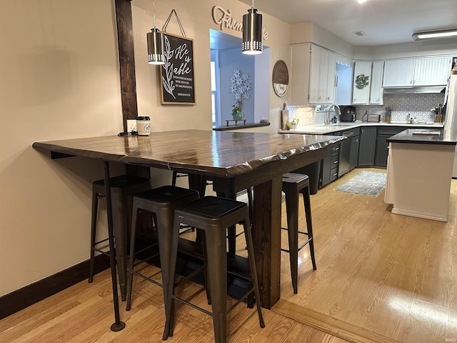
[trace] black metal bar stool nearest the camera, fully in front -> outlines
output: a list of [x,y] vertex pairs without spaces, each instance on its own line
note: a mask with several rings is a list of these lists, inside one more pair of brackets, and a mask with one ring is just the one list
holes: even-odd
[[[232,225],[243,223],[246,234],[246,244],[248,249],[248,262],[251,267],[251,275],[236,274],[237,277],[246,279],[252,283],[251,289],[238,299],[230,309],[227,309],[227,252],[226,252],[226,228]],[[260,307],[260,297],[258,292],[258,281],[256,263],[254,259],[254,247],[249,222],[248,205],[244,202],[237,202],[231,199],[220,197],[203,197],[195,202],[184,205],[176,209],[174,216],[174,237],[171,247],[171,275],[174,275],[176,267],[176,256],[178,251],[178,235],[180,223],[186,223],[204,232],[204,262],[206,274],[208,275],[209,292],[211,295],[212,312],[206,311],[201,307],[191,304],[174,294],[174,284],[169,283],[167,305],[170,309],[169,317],[166,318],[164,339],[173,336],[174,331],[174,300],[188,304],[201,312],[211,315],[214,323],[214,337],[216,343],[226,342],[227,318],[226,314],[237,304],[243,301],[252,292],[256,297],[258,319],[261,327],[265,327]]]

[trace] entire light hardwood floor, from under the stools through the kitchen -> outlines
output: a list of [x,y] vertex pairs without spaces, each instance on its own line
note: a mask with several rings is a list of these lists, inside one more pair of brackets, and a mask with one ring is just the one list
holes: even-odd
[[[266,327],[258,326],[255,310],[240,305],[229,315],[229,342],[456,342],[457,180],[449,221],[441,223],[391,214],[383,192],[333,190],[361,170],[385,172],[356,169],[311,196],[318,269],[303,248],[293,294],[288,255],[281,253],[281,300],[263,309]],[[159,269],[145,268],[160,278]],[[114,315],[106,271],[93,284],[80,282],[2,319],[0,342],[162,342],[161,289],[139,278],[134,287],[131,311],[121,303],[121,332],[109,330]],[[199,285],[179,292],[206,302]],[[210,317],[178,306],[176,318],[167,342],[214,342]]]

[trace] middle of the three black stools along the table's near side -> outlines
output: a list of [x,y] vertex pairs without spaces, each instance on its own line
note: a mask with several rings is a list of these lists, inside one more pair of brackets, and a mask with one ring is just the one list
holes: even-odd
[[[130,244],[130,264],[129,264],[129,292],[127,295],[127,304],[126,310],[131,309],[131,294],[133,288],[134,275],[142,277],[149,282],[152,282],[156,285],[161,286],[164,289],[164,304],[165,304],[165,313],[169,315],[169,308],[166,307],[167,291],[169,289],[168,284],[171,282],[173,284],[174,275],[171,274],[171,242],[174,235],[173,222],[174,222],[174,210],[177,206],[186,204],[193,200],[199,199],[199,192],[185,189],[181,187],[173,186],[164,186],[156,189],[151,189],[147,192],[134,195],[134,204],[133,212],[131,219],[131,244]],[[154,222],[156,223],[157,237],[159,239],[159,255],[160,255],[160,264],[161,264],[161,274],[162,274],[162,283],[156,282],[150,277],[141,274],[135,271],[135,267],[142,262],[147,262],[156,255],[151,255],[146,257],[143,260],[137,260],[135,262],[135,257],[146,250],[148,250],[151,245],[144,247],[141,251],[136,252],[136,217],[139,210],[144,210],[154,213]],[[179,232],[176,232],[176,237],[179,235]],[[154,245],[154,244],[153,244]],[[201,268],[203,269],[203,267]],[[186,278],[194,277],[194,275],[201,272],[201,269],[196,269],[191,275]]]

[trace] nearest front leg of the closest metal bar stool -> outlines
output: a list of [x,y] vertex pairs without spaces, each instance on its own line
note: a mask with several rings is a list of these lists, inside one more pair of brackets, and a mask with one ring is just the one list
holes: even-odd
[[225,343],[227,336],[227,253],[225,230],[209,229],[205,232],[206,252],[211,256],[208,261],[207,274],[213,312],[214,339],[216,343]]

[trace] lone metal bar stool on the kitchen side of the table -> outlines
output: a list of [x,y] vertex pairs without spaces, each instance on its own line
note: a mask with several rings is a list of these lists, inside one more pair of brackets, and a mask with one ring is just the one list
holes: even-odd
[[[313,269],[316,270],[316,259],[314,258],[314,243],[313,243],[313,224],[311,222],[311,200],[309,197],[309,178],[304,174],[283,174],[283,192],[286,194],[286,212],[287,212],[287,229],[288,231],[288,249],[281,249],[283,252],[288,252],[291,263],[291,277],[293,293],[297,293],[297,278],[298,278],[298,252],[309,244],[311,262]],[[303,203],[306,214],[307,232],[298,230],[298,194],[303,194]],[[305,234],[308,239],[298,247],[298,234]]]

